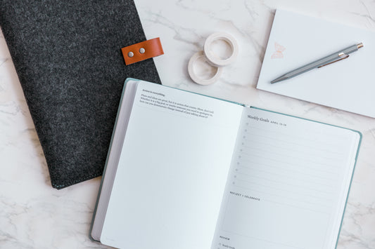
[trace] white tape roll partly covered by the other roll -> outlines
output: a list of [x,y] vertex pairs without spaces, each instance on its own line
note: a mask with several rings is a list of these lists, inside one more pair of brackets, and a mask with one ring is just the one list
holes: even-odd
[[[200,77],[196,74],[194,70],[194,65],[198,60],[203,60],[204,63],[208,64],[207,59],[205,58],[205,55],[203,55],[203,51],[195,53],[193,56],[191,56],[189,60],[189,65],[188,65],[188,72],[191,77],[191,79],[200,85],[210,85],[211,83],[214,83],[217,81],[217,79],[220,77],[222,74],[222,68],[221,67],[214,67],[216,72],[215,74],[210,78],[210,79],[205,79],[203,77]],[[212,67],[212,65],[208,64],[209,67]]]

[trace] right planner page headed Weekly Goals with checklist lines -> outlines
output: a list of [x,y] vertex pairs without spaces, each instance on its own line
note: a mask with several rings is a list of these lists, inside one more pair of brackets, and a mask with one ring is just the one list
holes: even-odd
[[360,140],[244,108],[212,249],[335,248]]

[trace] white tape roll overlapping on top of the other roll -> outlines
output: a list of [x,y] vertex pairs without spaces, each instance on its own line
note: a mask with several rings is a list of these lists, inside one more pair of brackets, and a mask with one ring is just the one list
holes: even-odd
[[[213,53],[211,46],[214,41],[223,40],[226,41],[229,46],[231,46],[231,55],[228,58],[220,58],[220,55]],[[203,51],[207,60],[215,67],[222,67],[231,64],[236,60],[237,54],[239,53],[239,46],[236,40],[230,34],[226,33],[214,33],[208,36],[205,40],[205,45],[203,46]]]

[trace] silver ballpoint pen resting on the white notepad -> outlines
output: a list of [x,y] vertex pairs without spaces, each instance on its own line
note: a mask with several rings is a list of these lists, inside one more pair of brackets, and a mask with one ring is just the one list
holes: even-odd
[[358,50],[358,48],[362,48],[362,47],[363,47],[363,44],[359,43],[359,44],[352,45],[348,48],[344,48],[341,51],[328,55],[322,59],[315,60],[314,62],[311,62],[303,67],[298,67],[297,69],[294,69],[291,72],[287,72],[286,74],[279,76],[279,78],[271,81],[271,83],[277,83],[279,81],[291,79],[297,75],[303,74],[304,72],[310,71],[311,69],[324,67],[326,65],[337,62],[339,60],[346,59],[349,57],[348,55],[349,53],[355,52]]

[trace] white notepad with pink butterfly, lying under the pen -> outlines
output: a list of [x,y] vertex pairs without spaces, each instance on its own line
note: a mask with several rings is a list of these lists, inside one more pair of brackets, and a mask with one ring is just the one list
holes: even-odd
[[[295,68],[363,43],[348,59],[270,83]],[[375,32],[277,10],[258,89],[375,117]]]

